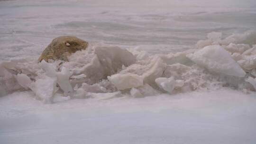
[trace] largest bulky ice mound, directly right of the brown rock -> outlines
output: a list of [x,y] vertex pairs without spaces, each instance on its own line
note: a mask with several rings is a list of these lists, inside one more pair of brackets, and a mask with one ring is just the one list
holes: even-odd
[[[82,80],[88,84],[94,84],[136,62],[136,57],[125,49],[117,46],[92,46],[86,51],[74,53],[69,57],[69,62],[63,64],[74,75],[84,74]],[[71,80],[72,84],[79,82]]]

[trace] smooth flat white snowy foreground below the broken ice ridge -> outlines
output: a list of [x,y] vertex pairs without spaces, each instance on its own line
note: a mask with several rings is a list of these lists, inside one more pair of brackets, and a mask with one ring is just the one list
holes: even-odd
[[47,105],[0,98],[2,144],[254,144],[256,97],[237,90]]

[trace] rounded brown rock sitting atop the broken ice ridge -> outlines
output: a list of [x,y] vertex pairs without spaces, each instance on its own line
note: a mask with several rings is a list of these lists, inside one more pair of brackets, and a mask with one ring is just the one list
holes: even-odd
[[68,56],[79,50],[85,50],[88,42],[75,36],[59,36],[55,38],[50,45],[46,47],[38,61],[52,60],[68,61]]

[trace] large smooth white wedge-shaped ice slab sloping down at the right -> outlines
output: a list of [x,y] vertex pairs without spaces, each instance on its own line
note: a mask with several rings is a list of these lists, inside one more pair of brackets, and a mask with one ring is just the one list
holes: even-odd
[[194,54],[188,54],[187,57],[212,72],[237,77],[244,77],[246,74],[229,52],[219,45],[206,46]]

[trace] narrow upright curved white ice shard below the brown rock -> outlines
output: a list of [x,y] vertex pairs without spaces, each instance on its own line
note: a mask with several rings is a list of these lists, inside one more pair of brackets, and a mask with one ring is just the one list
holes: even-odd
[[56,72],[57,83],[65,93],[68,93],[73,90],[71,84],[69,83],[70,75],[71,73],[65,67],[62,68],[61,72]]

